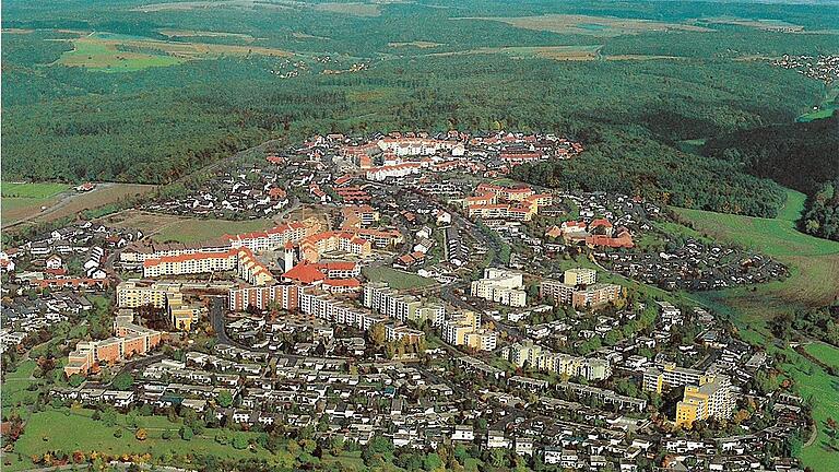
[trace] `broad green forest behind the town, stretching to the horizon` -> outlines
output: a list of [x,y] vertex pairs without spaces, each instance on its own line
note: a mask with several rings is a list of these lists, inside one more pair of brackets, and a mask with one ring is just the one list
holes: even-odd
[[[570,134],[587,146],[571,162],[517,169],[522,179],[771,216],[783,200],[782,189],[761,178],[772,176],[729,155],[685,154],[677,143],[792,122],[819,99],[823,86],[773,68],[760,55],[839,52],[836,36],[820,32],[839,17],[832,7],[435,1],[430,8],[420,1],[365,4],[367,13],[358,15],[311,1],[281,13],[256,7],[145,11],[137,7],[149,2],[138,0],[7,3],[3,27],[15,31],[3,32],[4,179],[167,184],[267,139],[507,129]],[[581,34],[485,19],[558,13],[690,24],[721,15],[761,17],[812,33],[702,23],[707,32]],[[188,35],[164,34],[172,30]],[[305,67],[280,78],[272,71],[291,61],[251,54],[131,72],[68,67],[63,59],[79,47],[79,32],[281,48]],[[599,56],[541,56],[540,47],[557,46],[598,48]],[[346,69],[357,62],[367,68],[318,72],[324,63]]]

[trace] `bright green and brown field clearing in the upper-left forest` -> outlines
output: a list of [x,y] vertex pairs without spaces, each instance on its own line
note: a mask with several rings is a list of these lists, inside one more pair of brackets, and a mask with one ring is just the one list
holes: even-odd
[[216,59],[222,56],[293,56],[283,49],[194,42],[165,42],[139,36],[91,33],[71,39],[73,50],[61,55],[58,63],[103,72],[132,72],[151,67],[176,66],[187,60]]

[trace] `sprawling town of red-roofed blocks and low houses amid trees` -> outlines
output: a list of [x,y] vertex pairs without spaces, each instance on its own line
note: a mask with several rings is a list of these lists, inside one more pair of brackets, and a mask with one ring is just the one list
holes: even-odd
[[669,234],[637,196],[509,178],[582,151],[454,131],[261,148],[137,209],[274,222],[260,231],[176,243],[80,220],[7,248],[2,350],[96,312],[58,346],[44,402],[363,458],[383,440],[510,469],[800,470],[806,399],[724,314],[680,296],[788,269]]

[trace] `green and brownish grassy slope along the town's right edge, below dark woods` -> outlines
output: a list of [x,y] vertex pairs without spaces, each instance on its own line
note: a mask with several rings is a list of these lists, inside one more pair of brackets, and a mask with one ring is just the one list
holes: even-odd
[[[755,248],[790,268],[785,281],[757,287],[738,287],[697,295],[701,302],[732,316],[743,338],[782,350],[789,364],[782,367],[804,398],[814,398],[813,416],[818,437],[802,451],[805,465],[817,472],[839,470],[839,452],[827,447],[825,421],[839,411],[839,378],[785,346],[771,343],[767,320],[797,308],[822,306],[839,296],[839,243],[814,238],[795,231],[804,196],[789,191],[787,204],[776,219],[724,215],[697,210],[677,210],[700,233],[724,241]],[[813,349],[813,347],[811,347]],[[832,355],[836,355],[836,350]]]

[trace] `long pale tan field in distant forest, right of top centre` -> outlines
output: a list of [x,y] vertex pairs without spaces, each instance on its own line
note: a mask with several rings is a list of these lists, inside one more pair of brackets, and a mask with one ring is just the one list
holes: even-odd
[[524,30],[547,31],[560,34],[581,34],[601,37],[659,31],[712,31],[702,26],[681,23],[662,23],[651,20],[627,20],[612,16],[589,16],[574,14],[545,14],[541,16],[473,16],[452,20],[497,21]]

